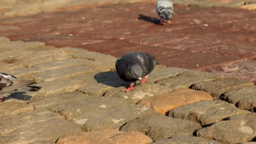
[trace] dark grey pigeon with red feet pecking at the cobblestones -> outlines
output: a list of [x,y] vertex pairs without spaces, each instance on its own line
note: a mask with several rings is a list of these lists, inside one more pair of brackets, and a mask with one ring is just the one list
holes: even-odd
[[142,84],[147,81],[147,76],[155,66],[158,65],[156,58],[148,53],[134,52],[127,53],[116,60],[116,72],[118,76],[126,82],[132,82],[130,86],[123,90],[128,92],[134,90],[133,84],[139,80]]

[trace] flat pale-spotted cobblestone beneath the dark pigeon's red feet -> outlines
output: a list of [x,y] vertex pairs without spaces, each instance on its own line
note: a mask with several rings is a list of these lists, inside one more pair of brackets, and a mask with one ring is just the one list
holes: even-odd
[[[127,85],[129,86],[129,85]],[[142,85],[134,86],[133,91],[123,92],[125,87],[118,87],[116,89],[111,89],[104,94],[104,97],[116,97],[119,99],[124,99],[130,103],[136,104],[143,98],[153,97],[156,94],[164,94],[172,92],[173,90],[167,86],[162,86],[154,83],[143,83]]]

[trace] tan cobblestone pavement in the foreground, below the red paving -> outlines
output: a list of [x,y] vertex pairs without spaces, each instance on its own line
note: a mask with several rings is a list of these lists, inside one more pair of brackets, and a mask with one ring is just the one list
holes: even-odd
[[[116,58],[0,37],[2,72],[35,79],[37,92],[0,103],[0,143],[243,143],[256,137],[256,86],[157,66],[123,92]],[[252,143],[252,142],[251,142]]]

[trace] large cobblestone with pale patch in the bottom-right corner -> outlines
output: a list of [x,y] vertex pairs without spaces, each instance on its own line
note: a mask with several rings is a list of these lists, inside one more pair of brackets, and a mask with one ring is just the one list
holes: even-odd
[[243,143],[256,137],[256,113],[237,115],[197,131],[197,136],[222,143]]

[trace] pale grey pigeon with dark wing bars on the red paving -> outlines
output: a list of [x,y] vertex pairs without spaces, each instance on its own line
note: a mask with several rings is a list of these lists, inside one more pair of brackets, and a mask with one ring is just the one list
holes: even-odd
[[157,0],[156,13],[161,18],[161,24],[171,23],[173,4],[170,0]]

